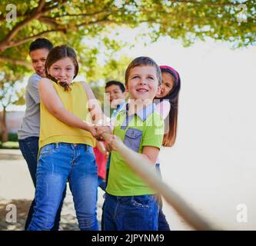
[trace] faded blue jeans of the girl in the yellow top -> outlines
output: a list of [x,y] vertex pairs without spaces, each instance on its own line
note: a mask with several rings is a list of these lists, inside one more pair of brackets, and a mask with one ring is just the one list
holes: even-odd
[[40,151],[35,188],[35,213],[28,231],[48,231],[69,182],[80,230],[98,230],[97,166],[91,146],[68,143],[45,145]]

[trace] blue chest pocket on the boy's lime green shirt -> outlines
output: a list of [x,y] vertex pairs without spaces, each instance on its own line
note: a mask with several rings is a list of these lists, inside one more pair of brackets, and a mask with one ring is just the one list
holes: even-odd
[[125,132],[124,144],[133,151],[138,152],[141,145],[142,131],[136,128],[128,128]]

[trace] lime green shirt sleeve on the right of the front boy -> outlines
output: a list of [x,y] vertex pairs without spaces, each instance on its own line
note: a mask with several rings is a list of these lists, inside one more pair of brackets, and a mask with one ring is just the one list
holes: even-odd
[[165,130],[164,119],[157,112],[147,119],[147,126],[143,132],[142,146],[161,148]]

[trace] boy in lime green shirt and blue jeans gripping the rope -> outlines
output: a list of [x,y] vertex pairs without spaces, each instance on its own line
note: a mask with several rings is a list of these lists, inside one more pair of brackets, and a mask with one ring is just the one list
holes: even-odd
[[158,230],[155,191],[148,188],[118,155],[111,139],[117,135],[128,148],[141,153],[155,165],[164,125],[152,101],[160,84],[161,70],[151,58],[135,58],[125,71],[125,86],[130,93],[130,101],[117,115],[114,135],[109,135],[105,141],[107,150],[111,151],[103,213],[105,231]]

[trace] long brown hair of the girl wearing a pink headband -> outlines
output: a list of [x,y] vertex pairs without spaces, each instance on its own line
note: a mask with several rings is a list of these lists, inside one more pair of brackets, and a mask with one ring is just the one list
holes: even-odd
[[161,72],[168,72],[171,77],[174,79],[175,84],[168,95],[164,98],[160,98],[160,101],[168,100],[171,104],[171,110],[168,114],[168,117],[165,118],[165,128],[168,129],[168,132],[164,135],[162,145],[165,147],[171,147],[175,144],[176,135],[177,135],[177,122],[178,122],[178,95],[181,89],[181,78],[174,68],[169,66],[160,66]]

